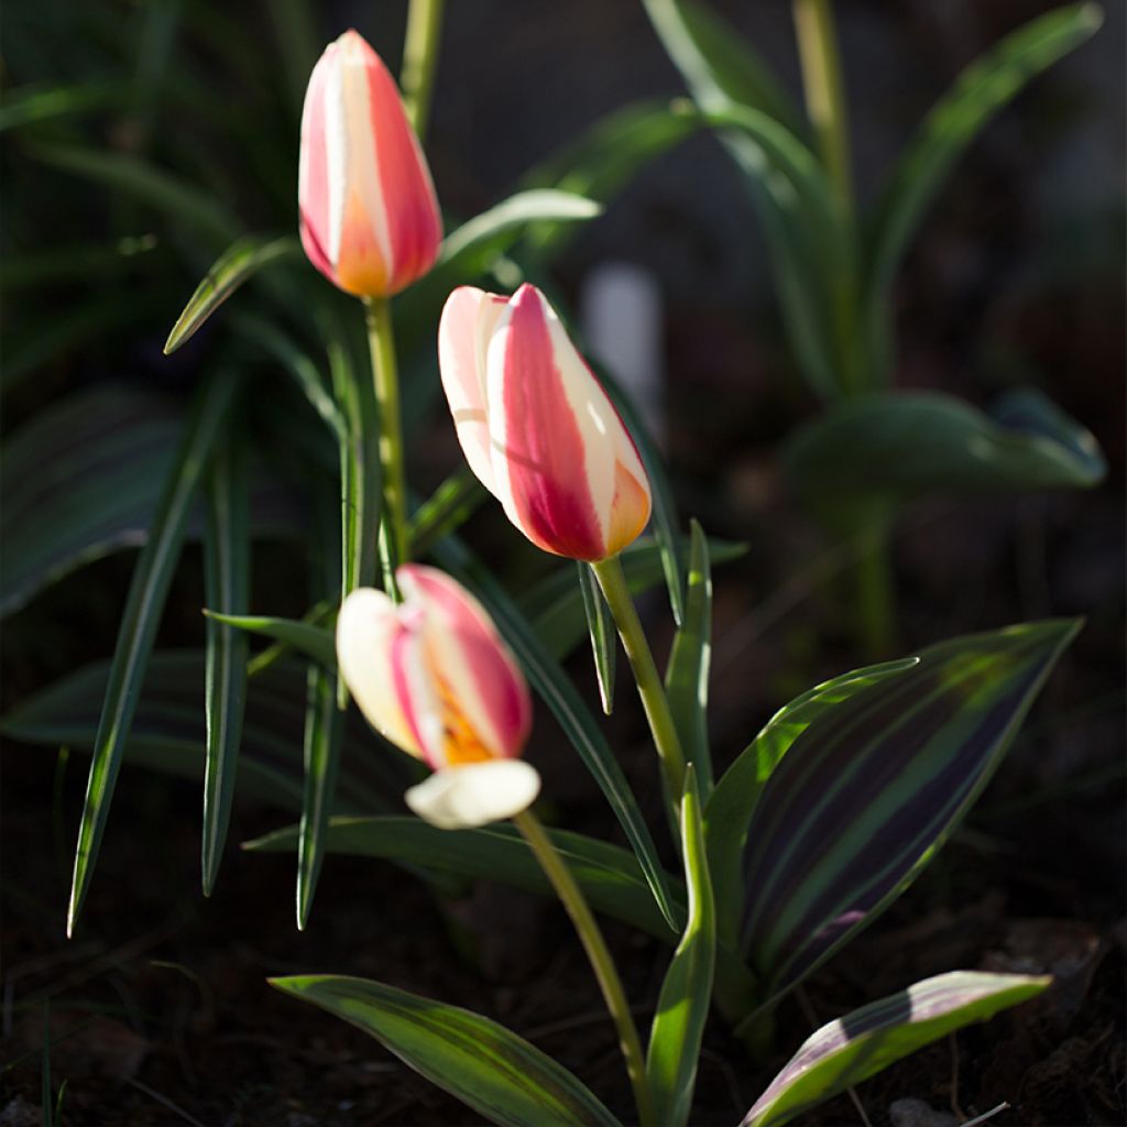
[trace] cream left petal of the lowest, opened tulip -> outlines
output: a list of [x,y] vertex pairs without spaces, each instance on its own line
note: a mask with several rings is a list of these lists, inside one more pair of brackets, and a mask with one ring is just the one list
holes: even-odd
[[344,601],[337,616],[337,663],[369,724],[397,747],[421,757],[418,725],[400,703],[399,690],[406,680],[402,655],[398,662],[392,659],[396,644],[402,647],[405,636],[396,604],[382,591],[358,588]]

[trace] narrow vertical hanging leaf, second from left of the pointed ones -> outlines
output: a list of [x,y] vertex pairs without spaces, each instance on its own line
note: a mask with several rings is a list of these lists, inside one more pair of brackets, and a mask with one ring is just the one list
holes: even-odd
[[[246,452],[241,436],[229,431],[215,452],[207,480],[207,529],[204,535],[204,587],[207,602],[227,613],[249,601],[250,544]],[[231,820],[239,744],[247,698],[247,636],[210,619],[206,648],[206,767],[201,868],[204,896],[219,876]]]

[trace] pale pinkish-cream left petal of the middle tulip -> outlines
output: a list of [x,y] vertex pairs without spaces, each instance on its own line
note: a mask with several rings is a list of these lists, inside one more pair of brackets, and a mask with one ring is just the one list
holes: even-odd
[[446,299],[438,322],[438,371],[458,441],[470,469],[494,496],[489,425],[486,420],[485,354],[507,304],[504,298],[463,285]]

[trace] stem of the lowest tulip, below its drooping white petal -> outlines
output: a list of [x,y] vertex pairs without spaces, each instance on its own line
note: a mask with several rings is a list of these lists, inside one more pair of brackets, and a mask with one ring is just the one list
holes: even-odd
[[513,818],[513,823],[529,843],[529,849],[540,862],[544,876],[556,889],[556,895],[559,896],[564,909],[571,917],[571,923],[575,924],[575,930],[587,952],[591,967],[595,971],[600,990],[603,992],[606,1009],[619,1031],[619,1047],[622,1049],[627,1073],[633,1088],[638,1118],[641,1120],[642,1127],[654,1127],[656,1122],[654,1097],[646,1077],[646,1058],[641,1051],[638,1027],[635,1024],[625,991],[622,988],[622,979],[619,977],[618,967],[615,967],[614,959],[606,947],[606,940],[603,939],[603,932],[587,906],[583,890],[576,884],[575,877],[571,876],[571,870],[552,844],[552,840],[548,836],[540,819],[531,810],[524,810]]

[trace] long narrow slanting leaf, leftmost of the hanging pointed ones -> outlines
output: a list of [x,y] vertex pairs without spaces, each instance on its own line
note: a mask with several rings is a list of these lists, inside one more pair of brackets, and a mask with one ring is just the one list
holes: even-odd
[[141,678],[184,543],[188,512],[198,492],[216,436],[223,433],[223,423],[238,383],[237,373],[216,370],[201,388],[165,482],[153,529],[133,573],[90,762],[66,913],[68,935],[73,933],[94,875],[125,740],[136,710]]

